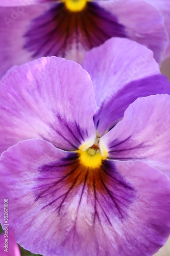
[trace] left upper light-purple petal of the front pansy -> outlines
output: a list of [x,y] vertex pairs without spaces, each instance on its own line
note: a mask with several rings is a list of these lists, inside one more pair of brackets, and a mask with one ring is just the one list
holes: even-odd
[[1,153],[31,138],[64,150],[95,139],[93,86],[76,62],[42,57],[16,67],[1,81],[0,101]]

